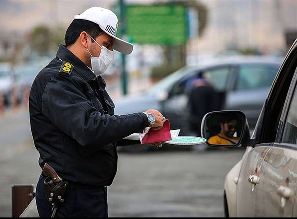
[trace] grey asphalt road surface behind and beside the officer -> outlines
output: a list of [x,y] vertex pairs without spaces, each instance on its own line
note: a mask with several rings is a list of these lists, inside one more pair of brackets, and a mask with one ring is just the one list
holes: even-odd
[[[26,109],[0,118],[0,149],[0,217],[10,217],[11,185],[35,185],[40,173]],[[225,175],[243,153],[243,149],[121,153],[118,173],[108,187],[109,216],[224,216]]]

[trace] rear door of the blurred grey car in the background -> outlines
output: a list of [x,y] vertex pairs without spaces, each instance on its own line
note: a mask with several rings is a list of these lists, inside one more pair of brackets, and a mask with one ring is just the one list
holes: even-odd
[[226,95],[225,109],[243,111],[251,130],[256,125],[277,71],[277,65],[244,64],[238,66],[235,87]]

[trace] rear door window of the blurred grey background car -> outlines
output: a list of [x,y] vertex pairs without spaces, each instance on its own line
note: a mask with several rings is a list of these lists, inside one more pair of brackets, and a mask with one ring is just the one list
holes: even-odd
[[237,90],[270,87],[278,69],[270,66],[241,66],[236,82]]

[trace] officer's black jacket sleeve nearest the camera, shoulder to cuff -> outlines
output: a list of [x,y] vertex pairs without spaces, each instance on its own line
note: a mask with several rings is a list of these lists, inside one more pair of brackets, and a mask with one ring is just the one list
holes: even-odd
[[143,113],[102,115],[70,76],[50,79],[41,99],[42,113],[82,146],[106,145],[149,126]]

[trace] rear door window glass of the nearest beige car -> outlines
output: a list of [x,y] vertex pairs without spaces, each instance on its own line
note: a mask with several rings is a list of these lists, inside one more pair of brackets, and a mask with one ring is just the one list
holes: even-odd
[[297,144],[297,87],[295,87],[285,122],[282,143]]

